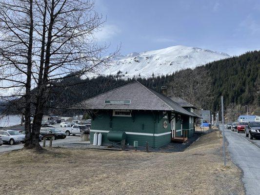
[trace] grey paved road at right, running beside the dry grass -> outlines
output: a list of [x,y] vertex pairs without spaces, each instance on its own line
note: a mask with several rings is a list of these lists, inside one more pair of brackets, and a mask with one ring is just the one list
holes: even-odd
[[228,150],[233,162],[243,171],[246,195],[260,195],[260,140],[251,140],[244,133],[225,129]]

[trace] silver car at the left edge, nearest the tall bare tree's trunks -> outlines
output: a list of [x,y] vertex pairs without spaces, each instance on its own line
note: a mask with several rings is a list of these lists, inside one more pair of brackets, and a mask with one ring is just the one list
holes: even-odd
[[0,136],[2,141],[14,145],[18,142],[24,142],[25,136],[14,130],[1,130]]

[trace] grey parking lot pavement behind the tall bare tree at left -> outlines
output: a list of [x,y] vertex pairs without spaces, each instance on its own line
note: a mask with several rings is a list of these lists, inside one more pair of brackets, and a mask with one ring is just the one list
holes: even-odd
[[[56,140],[52,141],[52,145],[59,146],[59,145],[62,145],[63,143],[77,142],[77,141],[80,141],[80,136],[67,136],[65,139],[56,139]],[[42,141],[40,142],[40,145],[42,146]],[[46,140],[46,146],[48,146],[48,145],[49,145],[49,141]],[[12,150],[18,150],[18,149],[22,149],[22,148],[23,148],[22,143],[17,143],[12,146],[9,144],[3,144],[2,146],[0,146],[0,153],[9,152]]]

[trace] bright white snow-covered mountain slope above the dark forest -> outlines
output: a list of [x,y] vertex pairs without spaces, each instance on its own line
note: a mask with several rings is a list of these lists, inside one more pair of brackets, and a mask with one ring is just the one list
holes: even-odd
[[178,70],[195,68],[208,62],[230,58],[228,54],[182,45],[119,56],[115,64],[102,70],[101,75],[120,75],[125,78],[172,74]]

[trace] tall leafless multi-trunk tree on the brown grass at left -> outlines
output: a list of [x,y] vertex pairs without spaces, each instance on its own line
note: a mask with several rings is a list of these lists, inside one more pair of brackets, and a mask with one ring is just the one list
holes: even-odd
[[118,50],[104,57],[107,46],[95,39],[103,23],[91,0],[0,3],[0,34],[4,35],[0,39],[0,81],[1,89],[7,90],[1,98],[12,104],[22,102],[25,148],[40,149],[46,102],[54,88],[70,85],[60,85],[60,80],[97,71],[117,54]]

